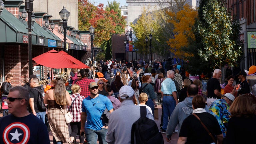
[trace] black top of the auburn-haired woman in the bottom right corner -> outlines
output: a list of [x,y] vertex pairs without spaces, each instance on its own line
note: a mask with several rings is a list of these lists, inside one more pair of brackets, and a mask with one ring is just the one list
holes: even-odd
[[256,144],[256,115],[253,118],[232,117],[228,121],[227,144]]

